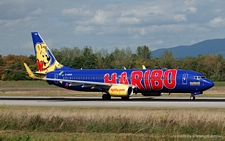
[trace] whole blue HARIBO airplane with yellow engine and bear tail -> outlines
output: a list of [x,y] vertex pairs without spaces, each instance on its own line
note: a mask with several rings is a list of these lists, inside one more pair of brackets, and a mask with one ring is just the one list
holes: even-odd
[[[143,96],[161,96],[163,93],[190,93],[190,99],[203,94],[214,86],[204,75],[181,69],[73,69],[60,64],[38,32],[31,32],[38,71],[32,72],[24,63],[33,79],[47,81],[62,88],[102,92],[103,100],[121,97],[128,100],[141,93]],[[82,63],[82,62],[80,62]]]

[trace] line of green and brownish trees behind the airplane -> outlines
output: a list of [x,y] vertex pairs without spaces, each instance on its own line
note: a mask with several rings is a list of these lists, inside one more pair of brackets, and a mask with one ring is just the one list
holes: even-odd
[[[133,52],[131,48],[116,48],[110,53],[106,49],[93,50],[86,46],[52,49],[55,58],[63,65],[74,69],[141,69],[168,68],[186,69],[204,74],[214,81],[225,80],[225,59],[221,54],[199,55],[198,57],[187,56],[176,58],[172,52],[164,51],[161,56],[153,57],[148,46],[138,46]],[[27,63],[33,70],[37,70],[36,57],[34,55],[0,55],[1,80],[30,80],[25,73],[23,63]]]

